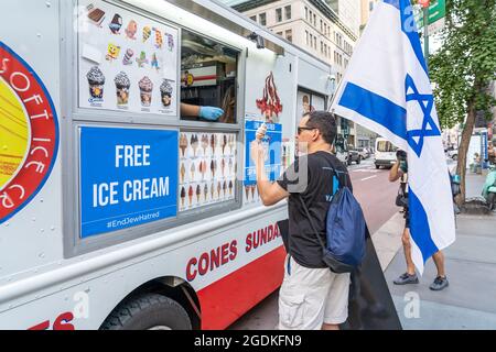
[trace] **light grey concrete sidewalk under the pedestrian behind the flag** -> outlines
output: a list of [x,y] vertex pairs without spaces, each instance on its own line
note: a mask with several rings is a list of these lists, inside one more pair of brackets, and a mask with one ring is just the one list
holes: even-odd
[[[483,176],[467,174],[466,198],[479,196],[483,184]],[[392,284],[406,270],[403,226],[402,215],[398,213],[373,235],[403,329],[496,329],[496,213],[457,216],[456,242],[444,251],[450,286],[442,292],[429,289],[435,277],[431,260],[420,284]],[[414,307],[411,293],[420,298],[420,314],[416,318],[407,318],[405,314],[406,308],[411,312]]]

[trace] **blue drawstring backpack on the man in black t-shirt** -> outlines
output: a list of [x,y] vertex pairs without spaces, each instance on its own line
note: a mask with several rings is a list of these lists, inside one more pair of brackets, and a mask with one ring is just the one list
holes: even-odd
[[[345,173],[336,169],[334,172],[335,174],[342,174],[343,177],[339,178],[344,179],[344,182],[339,182],[341,187],[334,193],[327,210],[326,244],[323,243],[316,232],[309,209],[301,197],[300,200],[309,217],[310,224],[322,245],[323,262],[334,273],[352,273],[362,264],[365,257],[368,229],[362,207],[347,185]],[[336,177],[334,177],[334,185],[336,185]]]

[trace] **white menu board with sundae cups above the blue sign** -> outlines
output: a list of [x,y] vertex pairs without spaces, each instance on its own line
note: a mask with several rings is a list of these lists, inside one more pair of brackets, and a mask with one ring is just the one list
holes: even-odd
[[99,0],[80,0],[79,107],[176,116],[176,29]]

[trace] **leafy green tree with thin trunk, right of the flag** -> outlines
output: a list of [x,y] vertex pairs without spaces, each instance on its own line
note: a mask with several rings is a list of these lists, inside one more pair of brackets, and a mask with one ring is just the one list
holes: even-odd
[[431,56],[435,103],[442,128],[463,123],[457,174],[459,205],[465,202],[465,165],[477,111],[487,120],[496,100],[488,94],[496,79],[496,0],[446,1],[443,46]]

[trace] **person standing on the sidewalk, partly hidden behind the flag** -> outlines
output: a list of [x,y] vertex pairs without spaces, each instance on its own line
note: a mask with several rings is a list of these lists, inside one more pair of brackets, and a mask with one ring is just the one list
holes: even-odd
[[[403,243],[405,258],[407,261],[407,272],[393,280],[395,285],[418,284],[419,278],[416,273],[416,266],[411,258],[411,241],[410,241],[410,212],[408,207],[408,163],[407,152],[399,150],[396,153],[397,161],[389,172],[389,180],[391,183],[400,180],[398,197],[396,205],[403,207],[405,230],[401,237]],[[431,284],[430,289],[441,290],[449,286],[448,277],[444,271],[444,254],[438,251],[432,255],[438,276]]]

